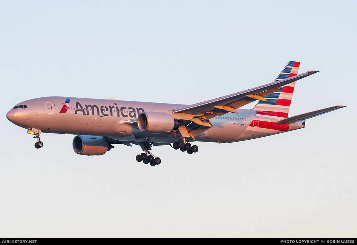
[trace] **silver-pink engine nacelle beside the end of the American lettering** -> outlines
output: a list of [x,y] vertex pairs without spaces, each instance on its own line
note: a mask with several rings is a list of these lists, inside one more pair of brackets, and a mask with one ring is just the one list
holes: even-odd
[[166,112],[146,111],[137,117],[137,125],[144,132],[163,133],[177,127],[178,122]]

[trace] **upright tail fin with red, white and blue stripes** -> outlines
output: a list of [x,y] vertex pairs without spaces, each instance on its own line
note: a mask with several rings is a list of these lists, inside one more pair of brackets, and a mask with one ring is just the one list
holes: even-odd
[[[274,81],[296,76],[299,66],[300,62],[290,61]],[[280,90],[265,96],[266,101],[259,101],[253,110],[261,115],[288,117],[294,87],[295,82],[281,86]]]

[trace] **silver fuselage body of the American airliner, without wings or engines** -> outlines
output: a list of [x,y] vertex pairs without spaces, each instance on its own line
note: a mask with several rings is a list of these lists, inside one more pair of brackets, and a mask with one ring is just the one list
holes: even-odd
[[[65,103],[70,99],[69,103]],[[85,99],[68,97],[42,97],[21,102],[27,108],[12,109],[6,117],[25,129],[39,129],[56,134],[80,134],[108,136],[122,141],[175,142],[181,137],[172,132],[148,133],[135,125],[125,123],[141,112],[160,111],[172,114],[172,110],[186,106],[151,102]],[[67,106],[65,112],[62,107]],[[227,113],[210,119],[213,127],[195,137],[196,141],[235,142],[254,139],[305,127],[301,122],[290,124],[287,130],[253,127],[254,110],[237,109],[238,114]],[[61,112],[61,113],[60,113]],[[174,114],[172,114],[174,115]],[[259,120],[279,120],[277,117]]]

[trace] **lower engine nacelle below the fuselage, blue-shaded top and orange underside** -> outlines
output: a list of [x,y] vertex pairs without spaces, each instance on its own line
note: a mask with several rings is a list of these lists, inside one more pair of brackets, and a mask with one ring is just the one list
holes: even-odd
[[72,146],[77,154],[100,156],[107,152],[111,145],[103,136],[77,135],[73,139]]

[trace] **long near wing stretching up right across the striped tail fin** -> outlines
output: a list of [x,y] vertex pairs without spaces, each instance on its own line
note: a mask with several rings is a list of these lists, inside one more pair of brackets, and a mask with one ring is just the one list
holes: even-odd
[[227,112],[236,113],[235,109],[238,109],[239,107],[249,104],[255,100],[265,101],[264,97],[278,91],[278,87],[290,84],[291,82],[300,80],[304,77],[315,74],[316,72],[319,71],[308,71],[300,75],[277,80],[262,86],[237,92],[235,94],[226,95],[217,99],[177,108],[173,110],[173,113],[185,113],[190,115],[203,115],[206,114],[206,112],[215,112],[217,115],[218,113],[223,115]]

